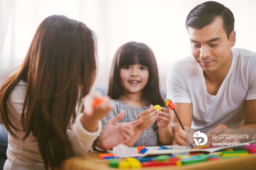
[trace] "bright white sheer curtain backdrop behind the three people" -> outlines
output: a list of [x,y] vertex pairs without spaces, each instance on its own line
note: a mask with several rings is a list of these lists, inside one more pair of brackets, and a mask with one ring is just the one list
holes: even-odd
[[[0,81],[19,66],[43,19],[53,14],[84,22],[98,40],[95,86],[106,88],[114,53],[126,42],[146,43],[154,52],[165,90],[173,62],[190,55],[185,19],[204,0],[0,0]],[[253,0],[218,0],[235,17],[235,47],[256,51]]]

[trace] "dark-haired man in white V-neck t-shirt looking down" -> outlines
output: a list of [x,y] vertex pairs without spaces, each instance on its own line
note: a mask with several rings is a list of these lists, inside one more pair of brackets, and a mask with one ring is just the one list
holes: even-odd
[[[256,53],[231,49],[236,42],[233,13],[208,1],[189,12],[186,27],[193,57],[177,61],[167,75],[167,98],[184,127],[255,128]],[[186,133],[175,115],[171,123],[173,144],[185,145]],[[187,139],[193,143],[191,134]]]

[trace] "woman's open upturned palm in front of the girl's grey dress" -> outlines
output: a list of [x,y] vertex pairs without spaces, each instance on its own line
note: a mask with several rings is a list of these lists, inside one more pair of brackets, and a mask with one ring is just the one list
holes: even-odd
[[129,122],[129,123],[116,123],[123,119],[125,111],[119,113],[113,119],[107,121],[102,128],[101,136],[99,137],[96,145],[101,149],[108,149],[127,142],[133,136],[133,127],[141,123],[142,119]]

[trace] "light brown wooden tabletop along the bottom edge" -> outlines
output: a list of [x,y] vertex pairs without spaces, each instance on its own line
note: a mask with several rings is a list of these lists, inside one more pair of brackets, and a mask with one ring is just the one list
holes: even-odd
[[[99,159],[101,152],[88,152],[85,157],[72,157],[55,170],[114,170],[107,159]],[[120,159],[121,160],[121,159]],[[206,161],[183,166],[142,167],[142,170],[255,170],[256,154],[248,156]]]

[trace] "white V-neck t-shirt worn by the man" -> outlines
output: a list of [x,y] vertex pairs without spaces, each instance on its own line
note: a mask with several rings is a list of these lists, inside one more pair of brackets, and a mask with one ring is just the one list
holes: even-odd
[[191,128],[244,125],[245,100],[256,99],[256,53],[231,49],[232,64],[217,95],[207,92],[203,70],[191,56],[174,63],[167,75],[167,98],[192,103]]

